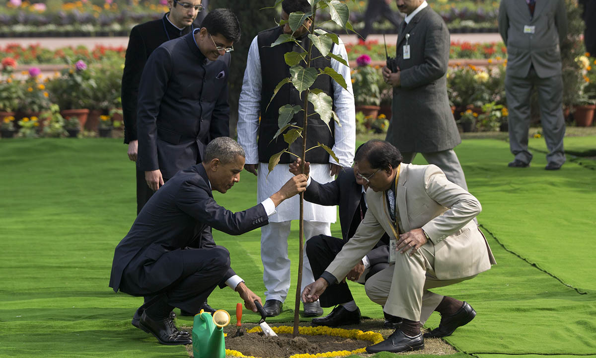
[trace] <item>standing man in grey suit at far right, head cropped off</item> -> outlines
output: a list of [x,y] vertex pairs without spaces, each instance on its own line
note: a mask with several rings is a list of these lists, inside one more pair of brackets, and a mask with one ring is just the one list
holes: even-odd
[[499,33],[507,46],[505,93],[509,109],[509,146],[515,156],[509,166],[525,168],[532,161],[527,149],[530,94],[538,90],[540,121],[547,142],[547,170],[565,162],[563,137],[563,77],[560,43],[567,35],[563,0],[501,0]]

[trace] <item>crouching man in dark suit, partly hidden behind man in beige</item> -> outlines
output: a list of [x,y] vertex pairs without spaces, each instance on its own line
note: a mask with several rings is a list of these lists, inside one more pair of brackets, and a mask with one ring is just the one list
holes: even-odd
[[[358,150],[356,150],[358,152]],[[299,174],[300,159],[290,164],[290,172]],[[306,162],[305,174],[309,174],[310,163]],[[320,184],[309,178],[304,199],[319,205],[339,205],[339,218],[342,227],[342,238],[320,234],[311,237],[306,243],[306,255],[315,279],[327,269],[337,253],[342,251],[343,245],[354,235],[358,225],[367,212],[366,191],[368,181],[358,172],[358,163],[353,168],[343,168],[336,180]],[[389,267],[389,236],[383,234],[377,245],[362,258],[361,262],[350,271],[346,279],[364,284],[364,282],[378,271]],[[345,280],[337,285],[331,285],[319,298],[322,307],[336,305],[325,317],[312,319],[313,326],[337,327],[360,323],[360,310],[352,298],[352,293]],[[384,326],[397,328],[401,324],[399,317],[385,313]]]

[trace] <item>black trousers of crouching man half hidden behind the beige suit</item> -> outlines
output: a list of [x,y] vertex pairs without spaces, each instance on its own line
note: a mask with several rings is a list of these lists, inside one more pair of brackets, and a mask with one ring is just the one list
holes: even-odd
[[[306,243],[306,255],[311,263],[312,274],[315,280],[321,277],[321,274],[327,269],[327,266],[335,259],[337,254],[342,251],[345,241],[337,237],[327,235],[317,235],[311,237]],[[376,264],[370,268],[365,280],[385,269],[389,264]],[[319,297],[321,307],[332,307],[334,305],[352,301],[352,292],[346,282],[330,285]]]

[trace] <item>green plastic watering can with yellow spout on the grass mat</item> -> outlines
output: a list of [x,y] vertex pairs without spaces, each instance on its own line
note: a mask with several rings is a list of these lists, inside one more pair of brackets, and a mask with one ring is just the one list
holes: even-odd
[[225,358],[224,327],[229,313],[217,310],[213,316],[201,310],[194,316],[193,353],[195,358]]

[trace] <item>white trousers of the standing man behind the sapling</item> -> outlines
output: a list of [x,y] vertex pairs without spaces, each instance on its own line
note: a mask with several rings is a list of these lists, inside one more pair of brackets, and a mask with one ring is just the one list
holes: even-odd
[[[288,236],[290,234],[291,221],[281,223],[269,223],[261,228],[261,260],[263,262],[263,282],[265,283],[265,300],[285,301],[290,289],[290,258],[288,258]],[[304,237],[306,240],[311,237],[324,234],[331,236],[330,223],[321,221],[305,221]],[[298,237],[291,239],[297,240]],[[303,252],[302,266],[302,287],[315,281],[312,275],[311,264]]]

